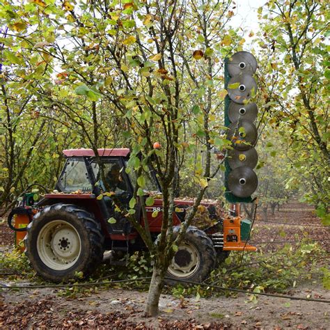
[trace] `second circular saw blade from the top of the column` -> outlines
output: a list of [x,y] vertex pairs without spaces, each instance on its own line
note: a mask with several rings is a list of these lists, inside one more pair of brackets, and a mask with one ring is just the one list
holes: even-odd
[[257,93],[256,80],[249,74],[239,74],[228,82],[228,95],[235,103],[244,104]]

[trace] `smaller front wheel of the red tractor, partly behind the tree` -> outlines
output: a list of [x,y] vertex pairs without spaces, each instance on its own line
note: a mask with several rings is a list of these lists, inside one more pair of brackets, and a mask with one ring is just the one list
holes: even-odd
[[[178,227],[174,228],[175,231],[178,233]],[[210,274],[215,261],[216,253],[210,237],[203,230],[190,226],[168,266],[166,283],[180,283],[175,279],[201,282]]]

